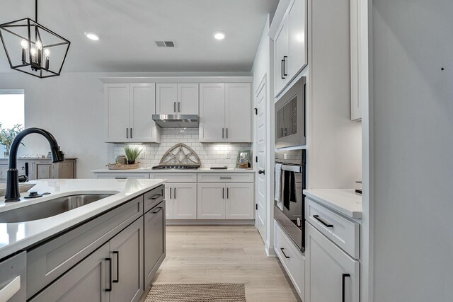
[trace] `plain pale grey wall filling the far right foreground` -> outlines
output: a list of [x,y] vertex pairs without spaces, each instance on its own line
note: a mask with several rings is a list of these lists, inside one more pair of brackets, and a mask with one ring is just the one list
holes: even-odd
[[376,302],[452,301],[452,13],[451,0],[373,1]]

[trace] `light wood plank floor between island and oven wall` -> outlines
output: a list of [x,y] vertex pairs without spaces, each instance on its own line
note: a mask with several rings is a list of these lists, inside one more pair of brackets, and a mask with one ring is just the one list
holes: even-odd
[[243,283],[247,302],[300,301],[254,226],[167,226],[156,284]]

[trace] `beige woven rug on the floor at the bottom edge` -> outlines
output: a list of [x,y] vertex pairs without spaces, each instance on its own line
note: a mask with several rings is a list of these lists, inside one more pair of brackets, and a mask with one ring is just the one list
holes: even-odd
[[154,284],[145,302],[246,302],[244,284]]

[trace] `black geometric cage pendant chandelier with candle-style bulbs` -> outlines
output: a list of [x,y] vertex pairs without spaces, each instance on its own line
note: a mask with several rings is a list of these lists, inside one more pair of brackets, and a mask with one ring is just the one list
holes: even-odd
[[71,44],[38,23],[38,0],[35,21],[23,18],[0,24],[0,38],[11,68],[41,79],[59,76]]

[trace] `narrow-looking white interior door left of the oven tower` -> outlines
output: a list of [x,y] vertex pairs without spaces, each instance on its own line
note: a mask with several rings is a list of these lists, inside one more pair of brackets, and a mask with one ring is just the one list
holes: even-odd
[[258,91],[256,91],[256,108],[258,115],[256,115],[256,154],[258,156],[258,163],[256,163],[256,228],[260,232],[261,238],[265,241],[266,238],[266,174],[259,174],[258,171],[262,170],[269,173],[266,169],[266,134],[268,129],[266,127],[266,102],[267,102],[267,80],[266,76],[261,81]]

